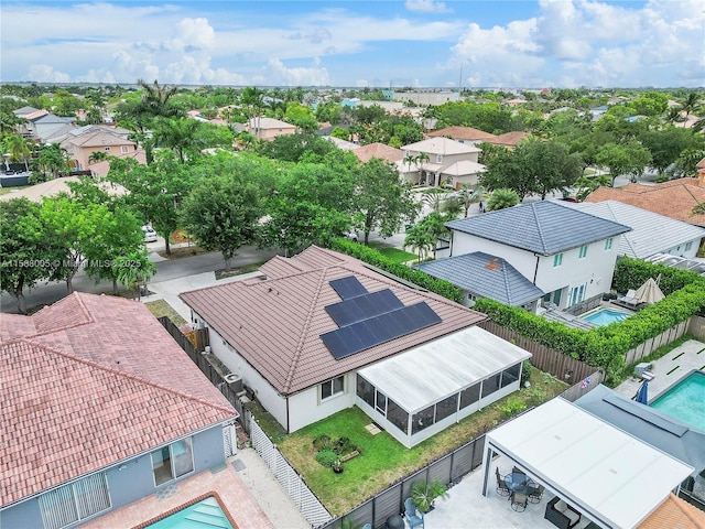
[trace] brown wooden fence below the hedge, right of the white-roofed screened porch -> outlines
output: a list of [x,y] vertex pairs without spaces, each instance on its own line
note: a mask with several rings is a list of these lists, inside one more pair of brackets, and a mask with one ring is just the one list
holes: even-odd
[[478,326],[507,342],[518,345],[522,349],[527,349],[532,355],[529,360],[532,366],[542,371],[550,373],[558,380],[567,384],[576,384],[599,370],[596,367],[588,366],[584,361],[571,358],[558,350],[551,349],[533,339],[521,336],[514,331],[502,327],[491,320],[485,320],[480,322]]

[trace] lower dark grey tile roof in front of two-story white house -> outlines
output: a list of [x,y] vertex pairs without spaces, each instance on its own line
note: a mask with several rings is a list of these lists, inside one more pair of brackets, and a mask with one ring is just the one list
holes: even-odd
[[481,251],[423,262],[413,268],[506,305],[521,306],[544,294],[505,259]]

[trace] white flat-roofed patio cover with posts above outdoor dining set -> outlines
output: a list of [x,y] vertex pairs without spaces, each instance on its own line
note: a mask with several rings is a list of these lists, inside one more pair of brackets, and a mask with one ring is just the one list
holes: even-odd
[[497,454],[603,529],[639,527],[693,472],[560,397],[487,433],[485,496]]

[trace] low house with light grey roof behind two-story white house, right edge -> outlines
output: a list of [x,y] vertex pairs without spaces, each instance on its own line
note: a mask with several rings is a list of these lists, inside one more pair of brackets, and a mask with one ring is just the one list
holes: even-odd
[[556,203],[629,226],[631,231],[622,235],[619,241],[619,256],[634,259],[646,259],[654,253],[695,257],[705,237],[705,229],[699,226],[618,201]]

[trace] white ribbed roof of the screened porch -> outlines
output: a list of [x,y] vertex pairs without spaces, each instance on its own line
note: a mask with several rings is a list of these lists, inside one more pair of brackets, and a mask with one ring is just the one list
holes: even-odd
[[480,327],[468,327],[360,369],[377,389],[414,413],[531,357]]

